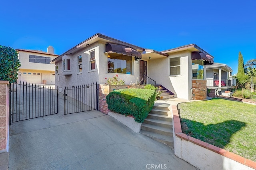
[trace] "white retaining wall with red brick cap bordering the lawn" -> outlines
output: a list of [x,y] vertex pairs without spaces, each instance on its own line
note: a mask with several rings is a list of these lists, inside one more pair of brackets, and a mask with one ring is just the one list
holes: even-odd
[[200,170],[253,170],[256,162],[182,133],[176,106],[172,106],[174,153]]

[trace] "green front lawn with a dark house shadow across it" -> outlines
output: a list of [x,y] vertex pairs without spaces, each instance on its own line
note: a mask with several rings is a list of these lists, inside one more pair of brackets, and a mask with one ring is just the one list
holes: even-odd
[[184,134],[256,162],[256,105],[212,99],[178,109]]

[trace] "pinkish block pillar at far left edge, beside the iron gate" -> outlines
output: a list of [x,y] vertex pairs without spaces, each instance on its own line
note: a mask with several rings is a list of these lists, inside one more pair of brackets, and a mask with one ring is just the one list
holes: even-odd
[[9,127],[9,81],[0,81],[0,153],[7,151]]

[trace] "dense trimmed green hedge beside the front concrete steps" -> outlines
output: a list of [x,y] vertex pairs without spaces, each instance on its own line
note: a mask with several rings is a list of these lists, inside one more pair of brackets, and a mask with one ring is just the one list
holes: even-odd
[[108,109],[121,115],[132,115],[142,123],[154,106],[156,91],[147,89],[120,89],[106,96]]

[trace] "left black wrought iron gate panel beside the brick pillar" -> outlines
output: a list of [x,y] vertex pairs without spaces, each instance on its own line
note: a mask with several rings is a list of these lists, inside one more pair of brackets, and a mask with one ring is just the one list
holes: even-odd
[[10,93],[12,122],[58,113],[58,89],[55,87],[12,83]]

